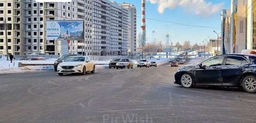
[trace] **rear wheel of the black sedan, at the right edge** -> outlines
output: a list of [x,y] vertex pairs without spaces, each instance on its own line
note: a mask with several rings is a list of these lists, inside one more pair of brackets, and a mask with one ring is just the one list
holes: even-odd
[[253,75],[246,76],[242,82],[246,92],[256,93],[256,77]]

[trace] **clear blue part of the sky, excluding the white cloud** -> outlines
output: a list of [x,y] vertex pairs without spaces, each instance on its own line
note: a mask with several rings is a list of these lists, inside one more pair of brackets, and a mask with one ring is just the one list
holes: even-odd
[[[132,3],[137,8],[137,16],[140,15],[141,11],[141,0],[115,0],[117,3]],[[147,1],[147,0],[146,0]],[[159,1],[159,0],[152,0],[152,1]],[[164,0],[163,0],[164,1]],[[166,0],[168,1],[168,0]],[[171,1],[171,0],[169,0]],[[184,0],[185,1],[185,0]],[[189,0],[192,1],[192,0]],[[200,0],[198,0],[200,1]],[[222,9],[230,9],[230,2],[231,0],[202,0],[206,3],[210,2],[212,5],[219,5],[221,7],[217,7],[218,11],[215,13],[211,13],[208,15],[202,14],[195,14],[193,11],[194,9],[187,9],[184,6],[176,6],[173,9],[165,9],[163,13],[158,11],[158,4],[153,4],[151,2],[146,3],[146,17],[157,19],[157,20],[164,20],[164,21],[175,21],[178,23],[186,23],[191,25],[199,25],[199,26],[210,26],[216,28],[199,28],[199,27],[188,27],[188,26],[181,26],[172,23],[163,23],[154,20],[146,20],[146,30],[147,30],[147,37],[148,41],[151,42],[154,38],[157,40],[162,40],[163,42],[166,41],[166,34],[170,35],[170,40],[173,41],[175,44],[179,42],[183,44],[185,40],[189,40],[192,44],[193,43],[202,43],[203,40],[209,39],[209,37],[214,38],[217,37],[213,30],[220,32],[220,12]],[[190,6],[190,4],[188,4]],[[208,9],[208,8],[206,8]],[[209,8],[211,9],[211,8]],[[216,8],[215,8],[216,9]],[[137,17],[137,31],[140,32],[140,19]],[[155,33],[153,33],[155,31]]]

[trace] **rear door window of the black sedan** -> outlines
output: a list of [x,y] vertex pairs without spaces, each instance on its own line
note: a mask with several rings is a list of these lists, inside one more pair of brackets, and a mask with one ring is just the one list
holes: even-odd
[[244,65],[247,64],[248,61],[245,60],[243,57],[238,56],[229,56],[226,60],[226,66],[238,66],[238,65]]

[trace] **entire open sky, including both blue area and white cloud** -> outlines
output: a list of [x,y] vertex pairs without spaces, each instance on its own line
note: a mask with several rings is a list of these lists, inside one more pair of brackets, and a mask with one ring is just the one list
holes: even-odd
[[[115,0],[117,3],[132,3],[137,8],[137,33],[141,32],[141,0]],[[207,26],[210,28],[183,26],[146,19],[148,42],[154,39],[166,42],[166,34],[175,45],[190,41],[202,44],[203,40],[217,38],[214,30],[220,32],[222,9],[230,9],[231,0],[146,0],[146,18]]]

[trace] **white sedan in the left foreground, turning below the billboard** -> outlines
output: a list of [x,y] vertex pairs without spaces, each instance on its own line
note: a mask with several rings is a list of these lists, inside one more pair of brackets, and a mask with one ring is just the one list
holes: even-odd
[[72,56],[68,57],[63,63],[57,67],[57,73],[62,76],[66,73],[81,73],[95,72],[95,63],[87,56]]

